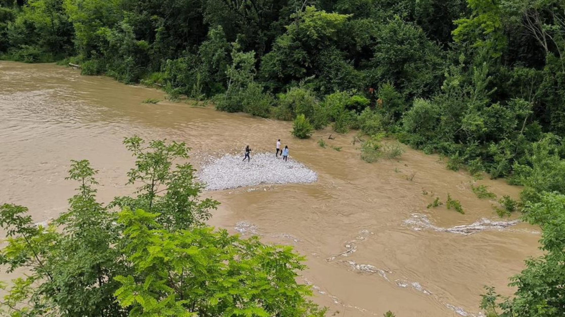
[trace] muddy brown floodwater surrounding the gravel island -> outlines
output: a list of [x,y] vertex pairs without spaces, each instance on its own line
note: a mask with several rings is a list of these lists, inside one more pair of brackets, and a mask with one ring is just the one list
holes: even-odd
[[[164,94],[53,64],[0,62],[0,203],[28,206],[37,222],[55,218],[76,187],[64,180],[69,160],[82,158],[99,170],[101,200],[131,193],[124,184],[133,158],[121,142],[134,134],[186,142],[196,166],[245,144],[273,151],[280,138],[318,180],[207,191],[221,202],[210,224],[294,245],[307,257],[303,281],[330,315],[478,316],[483,285],[511,294],[508,278],[540,254],[538,228],[498,218],[495,201],[477,199],[473,179],[438,156],[406,149],[368,164],[353,133],[327,140],[342,147],[334,151],[316,142],[329,130],[298,140],[289,122],[147,98]],[[476,183],[498,196],[520,191],[503,180]],[[426,208],[447,193],[465,214]]]

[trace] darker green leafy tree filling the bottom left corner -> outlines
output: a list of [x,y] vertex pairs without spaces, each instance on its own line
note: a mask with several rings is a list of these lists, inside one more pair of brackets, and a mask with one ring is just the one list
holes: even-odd
[[72,161],[67,179],[79,183],[77,193],[68,211],[47,227],[35,226],[27,208],[0,206],[0,224],[8,236],[0,263],[8,272],[29,271],[8,290],[5,301],[15,304],[5,306],[8,313],[21,305],[31,315],[125,315],[112,296],[117,289],[113,277],[128,268],[114,248],[119,243],[115,213],[95,200],[96,173],[88,161]]

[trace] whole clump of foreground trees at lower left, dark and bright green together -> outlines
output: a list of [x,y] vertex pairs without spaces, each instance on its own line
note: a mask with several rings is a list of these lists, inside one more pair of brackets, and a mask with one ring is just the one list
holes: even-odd
[[[303,257],[289,246],[240,239],[202,222],[219,203],[199,199],[184,143],[126,138],[135,156],[137,196],[97,201],[97,170],[72,161],[77,182],[69,208],[47,226],[28,209],[0,205],[6,244],[0,264],[25,278],[1,284],[0,312],[10,316],[281,315],[325,309],[298,284]],[[119,206],[116,213],[111,208]],[[139,208],[152,210],[146,212]],[[134,210],[134,211],[132,211]]]

